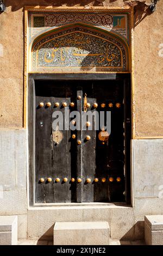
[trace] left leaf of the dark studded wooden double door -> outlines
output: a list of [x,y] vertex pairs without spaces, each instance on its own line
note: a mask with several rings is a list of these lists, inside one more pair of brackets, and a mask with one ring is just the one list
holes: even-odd
[[[37,96],[51,95],[47,96]],[[69,106],[73,90],[71,87],[55,84],[47,84],[36,90],[36,202],[37,203],[62,203],[76,202],[76,185],[71,184],[70,179],[74,172],[71,156],[76,157],[74,147],[71,147],[70,130],[61,130],[61,141],[58,143],[58,133],[53,130],[53,114],[55,111],[62,113],[63,121],[65,120],[65,108],[62,102],[66,102]],[[54,97],[54,96],[55,97]],[[44,106],[39,107],[39,103],[43,102]],[[47,107],[46,103],[50,102],[51,107]],[[59,103],[59,107],[55,107],[55,103]],[[64,125],[64,122],[63,122]],[[58,129],[59,130],[59,129]],[[76,162],[76,160],[74,160]],[[45,179],[40,182],[40,179]],[[48,182],[48,178],[52,181]],[[68,182],[64,182],[67,178]],[[55,179],[59,179],[57,182]],[[73,190],[72,190],[72,187]]]

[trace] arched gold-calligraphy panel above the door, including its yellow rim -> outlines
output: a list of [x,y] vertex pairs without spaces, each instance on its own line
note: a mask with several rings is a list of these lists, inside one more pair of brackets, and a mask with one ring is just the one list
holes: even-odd
[[129,47],[105,29],[73,23],[49,29],[30,44],[30,71],[129,71]]

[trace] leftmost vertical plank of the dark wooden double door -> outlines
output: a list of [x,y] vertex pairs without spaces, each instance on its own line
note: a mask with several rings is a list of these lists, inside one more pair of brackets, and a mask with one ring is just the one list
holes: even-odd
[[52,175],[52,108],[39,107],[39,103],[51,102],[51,97],[36,96],[36,121],[35,121],[35,176],[36,176],[36,202],[46,203],[53,200],[52,184],[39,181]]

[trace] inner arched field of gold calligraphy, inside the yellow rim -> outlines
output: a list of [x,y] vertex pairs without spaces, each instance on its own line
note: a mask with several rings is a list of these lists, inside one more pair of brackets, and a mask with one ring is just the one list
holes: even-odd
[[34,46],[32,69],[47,68],[126,70],[126,50],[111,36],[74,27],[48,35]]

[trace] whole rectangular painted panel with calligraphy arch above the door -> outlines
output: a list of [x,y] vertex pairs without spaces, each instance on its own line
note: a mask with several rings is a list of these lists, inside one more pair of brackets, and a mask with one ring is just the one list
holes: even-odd
[[30,71],[129,71],[127,13],[39,9],[28,22]]

